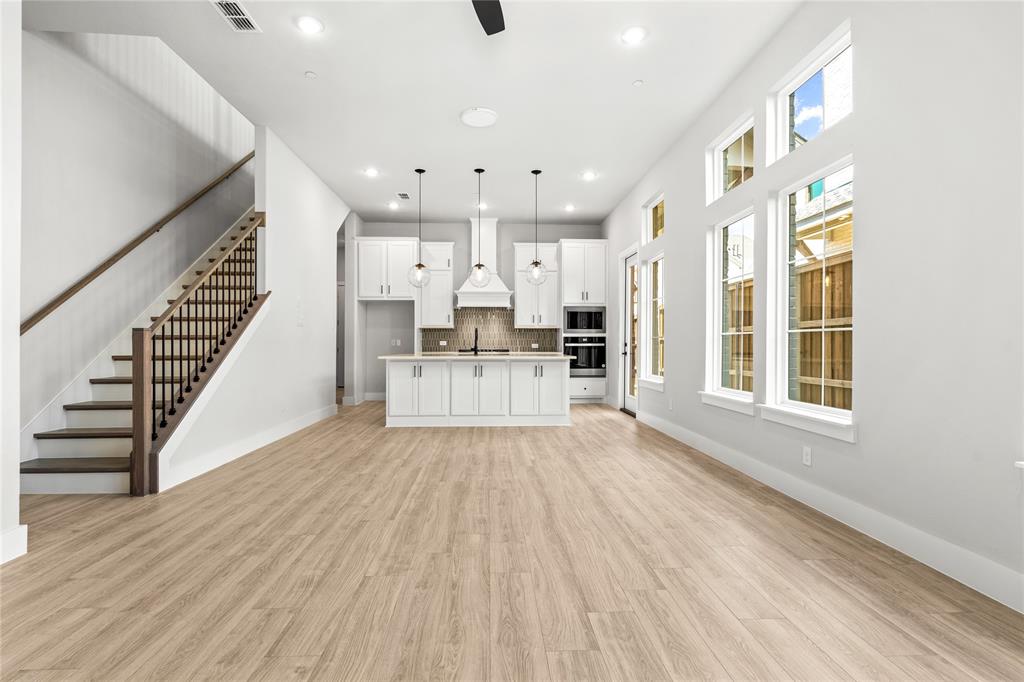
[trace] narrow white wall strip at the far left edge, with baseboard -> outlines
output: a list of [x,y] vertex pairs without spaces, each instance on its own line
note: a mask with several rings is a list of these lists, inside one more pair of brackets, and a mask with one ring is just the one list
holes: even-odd
[[0,562],[24,554],[18,523],[22,3],[0,2]]

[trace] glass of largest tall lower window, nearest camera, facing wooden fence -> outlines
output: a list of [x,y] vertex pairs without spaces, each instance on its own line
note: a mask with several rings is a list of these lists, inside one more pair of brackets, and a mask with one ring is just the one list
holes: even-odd
[[853,166],[788,197],[787,394],[853,408]]

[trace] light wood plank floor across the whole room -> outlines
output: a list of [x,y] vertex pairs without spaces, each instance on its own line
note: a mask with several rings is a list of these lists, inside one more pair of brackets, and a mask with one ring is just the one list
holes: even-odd
[[27,496],[5,679],[1017,679],[1024,616],[601,406],[380,403],[146,499]]

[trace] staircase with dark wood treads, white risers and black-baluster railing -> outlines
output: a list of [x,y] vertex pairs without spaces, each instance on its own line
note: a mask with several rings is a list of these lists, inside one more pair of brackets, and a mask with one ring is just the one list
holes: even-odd
[[269,295],[257,283],[263,224],[252,211],[236,223],[150,327],[131,331],[132,352],[111,356],[114,375],[89,379],[92,399],[63,406],[65,428],[34,434],[23,494],[159,491],[160,449]]

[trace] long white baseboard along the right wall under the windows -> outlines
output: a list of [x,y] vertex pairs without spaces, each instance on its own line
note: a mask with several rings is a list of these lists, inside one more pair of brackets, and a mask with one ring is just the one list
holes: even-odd
[[1024,612],[1024,574],[660,417],[637,420],[813,507],[1010,608]]

